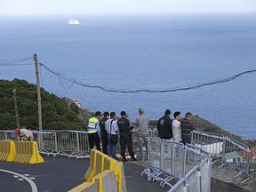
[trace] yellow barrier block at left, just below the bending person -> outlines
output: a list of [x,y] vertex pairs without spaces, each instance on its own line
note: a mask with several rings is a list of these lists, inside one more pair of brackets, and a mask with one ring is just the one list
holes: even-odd
[[36,141],[17,141],[15,148],[16,156],[13,162],[19,164],[44,163],[44,158],[39,154]]

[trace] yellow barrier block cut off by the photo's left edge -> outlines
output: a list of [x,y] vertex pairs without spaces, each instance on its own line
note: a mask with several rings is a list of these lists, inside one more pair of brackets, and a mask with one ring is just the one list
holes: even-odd
[[16,149],[13,140],[0,140],[0,161],[13,162]]

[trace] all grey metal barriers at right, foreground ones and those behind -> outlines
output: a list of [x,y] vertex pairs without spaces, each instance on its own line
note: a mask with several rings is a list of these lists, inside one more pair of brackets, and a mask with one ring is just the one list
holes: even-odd
[[[160,180],[161,186],[172,187],[170,191],[210,191],[212,164],[217,162],[218,170],[228,165],[238,172],[234,180],[245,174],[247,179],[241,185],[249,180],[256,182],[256,152],[224,135],[194,131],[192,145],[186,146],[152,138],[148,139],[148,148],[148,168],[141,175]],[[171,180],[178,182],[171,184]]]

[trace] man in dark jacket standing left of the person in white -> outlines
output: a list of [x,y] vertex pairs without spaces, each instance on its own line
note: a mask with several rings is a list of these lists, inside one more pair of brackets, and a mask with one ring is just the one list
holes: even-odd
[[158,137],[164,140],[171,140],[172,138],[172,119],[171,110],[166,109],[164,116],[157,121]]

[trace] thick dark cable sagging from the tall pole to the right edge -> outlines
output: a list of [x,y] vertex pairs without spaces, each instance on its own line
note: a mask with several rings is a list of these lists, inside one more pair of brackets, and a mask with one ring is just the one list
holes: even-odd
[[[87,87],[87,88],[97,88],[102,90],[103,92],[121,92],[121,93],[136,93],[136,92],[178,92],[178,91],[185,91],[185,90],[192,90],[192,89],[198,89],[202,86],[209,86],[212,84],[222,84],[222,83],[226,83],[229,81],[232,81],[236,78],[238,78],[239,76],[244,76],[246,74],[251,74],[251,73],[255,73],[256,70],[252,69],[252,70],[247,70],[244,71],[242,73],[236,74],[234,76],[228,76],[225,78],[221,78],[221,79],[217,79],[211,82],[205,82],[205,83],[201,83],[201,84],[192,84],[192,85],[188,85],[188,86],[183,86],[183,87],[175,87],[175,88],[167,88],[167,89],[138,89],[138,90],[123,90],[123,89],[112,89],[112,88],[106,88],[106,87],[102,87],[100,85],[92,85],[92,84],[83,84],[80,82],[77,82],[75,79],[73,78],[68,78],[67,76],[64,76],[58,72],[53,71],[50,68],[47,68],[43,63],[39,63],[40,66],[44,67],[47,71],[51,72],[52,74],[58,76],[58,78],[60,79],[60,84],[62,84],[61,80],[66,80],[68,82],[71,83],[71,85],[69,86],[69,88],[73,85],[73,84],[79,84],[81,86]],[[62,84],[63,85],[63,84]]]

